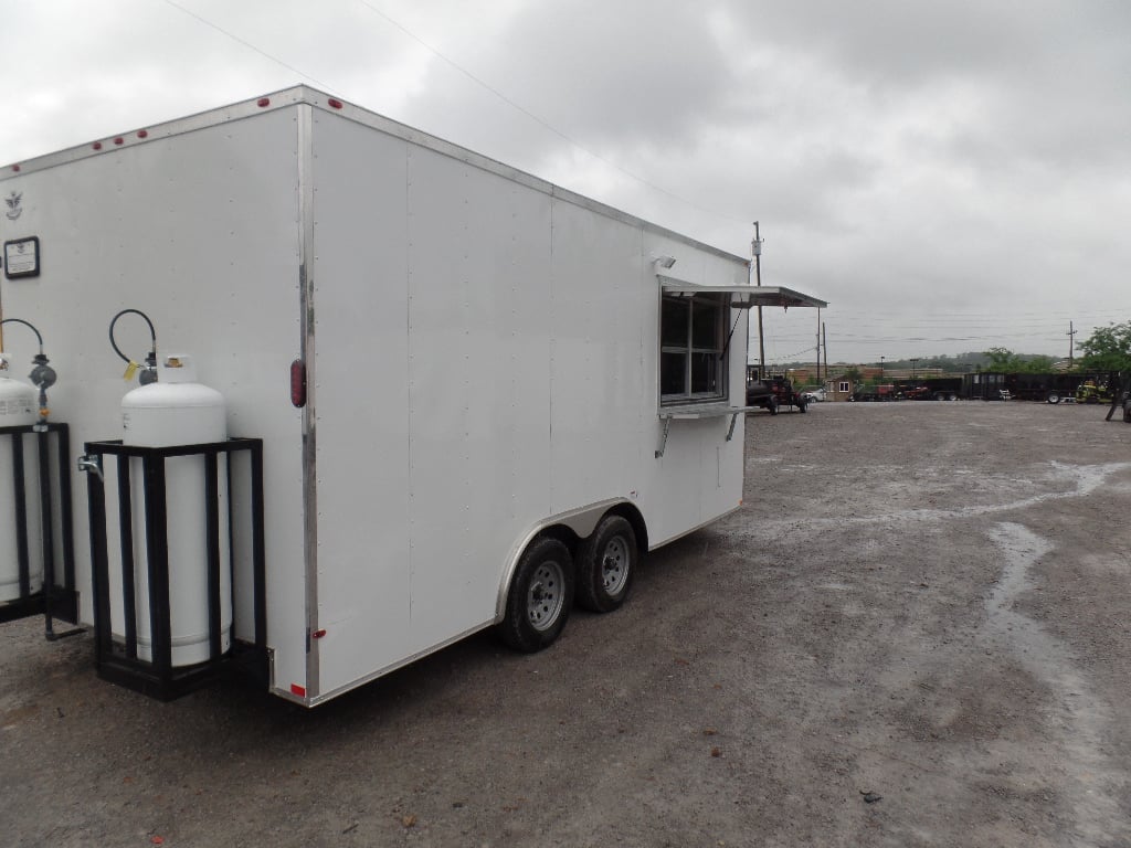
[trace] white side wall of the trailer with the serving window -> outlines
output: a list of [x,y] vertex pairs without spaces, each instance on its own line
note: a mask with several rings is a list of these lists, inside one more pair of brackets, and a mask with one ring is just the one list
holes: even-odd
[[655,457],[651,256],[700,284],[745,282],[743,262],[342,115],[316,112],[313,148],[309,696],[491,624],[547,518],[622,499],[664,540],[739,504],[741,421],[731,442],[727,417],[674,422]]

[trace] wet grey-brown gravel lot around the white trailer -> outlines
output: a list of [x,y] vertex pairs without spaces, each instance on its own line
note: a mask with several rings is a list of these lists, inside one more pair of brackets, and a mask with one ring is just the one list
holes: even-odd
[[0,842],[1126,846],[1131,426],[1104,413],[752,414],[745,507],[623,609],[313,711],[157,703],[89,635],[2,625]]

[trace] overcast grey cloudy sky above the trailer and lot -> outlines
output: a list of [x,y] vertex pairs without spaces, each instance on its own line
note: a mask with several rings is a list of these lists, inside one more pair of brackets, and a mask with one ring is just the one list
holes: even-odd
[[3,163],[303,83],[740,256],[757,219],[831,362],[1131,320],[1125,0],[0,0],[0,51]]

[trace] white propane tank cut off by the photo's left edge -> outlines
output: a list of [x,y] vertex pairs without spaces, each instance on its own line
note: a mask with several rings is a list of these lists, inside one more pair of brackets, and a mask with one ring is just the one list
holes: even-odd
[[[31,383],[8,377],[0,356],[0,427],[23,427],[38,418],[38,392]],[[23,440],[24,503],[27,508],[28,587],[43,588],[43,539],[40,536],[40,471],[34,439]],[[16,531],[15,442],[0,436],[0,603],[19,598],[19,551]]]

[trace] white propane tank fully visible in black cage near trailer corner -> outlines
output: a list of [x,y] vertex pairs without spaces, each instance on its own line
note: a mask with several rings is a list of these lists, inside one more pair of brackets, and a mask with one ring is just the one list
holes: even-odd
[[[223,442],[227,439],[224,397],[215,389],[197,382],[196,365],[191,356],[166,356],[158,364],[157,373],[157,382],[133,389],[122,398],[124,444],[169,448]],[[227,546],[227,459],[223,453],[218,457],[218,476],[221,650],[226,652],[231,646],[232,631],[232,572]],[[130,459],[130,479],[138,658],[152,661],[145,488],[140,459]],[[205,486],[202,456],[170,457],[165,460],[173,666],[196,665],[209,658]]]

